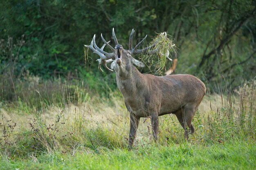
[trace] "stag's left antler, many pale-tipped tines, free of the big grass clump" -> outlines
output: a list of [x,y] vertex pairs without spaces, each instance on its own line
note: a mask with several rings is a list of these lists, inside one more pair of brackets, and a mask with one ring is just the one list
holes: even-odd
[[[115,33],[114,33],[114,34],[115,34]],[[91,44],[90,44],[89,46],[88,46],[88,45],[84,45],[84,46],[87,47],[87,48],[90,48],[94,53],[96,53],[96,54],[99,55],[100,58],[99,58],[98,60],[96,60],[96,61],[99,62],[99,67],[98,67],[98,68],[99,68],[100,71],[103,72],[103,70],[101,69],[101,65],[102,65],[102,64],[103,64],[103,66],[106,67],[109,71],[113,71],[113,70],[111,70],[110,68],[108,68],[107,64],[114,61],[114,60],[112,60],[112,57],[115,57],[115,53],[114,53],[115,49],[114,49],[112,46],[110,46],[110,44],[108,44],[110,41],[109,41],[109,42],[106,42],[106,40],[103,38],[102,34],[101,34],[101,39],[102,39],[103,42],[104,42],[104,44],[103,44],[103,46],[101,47],[101,49],[96,45],[96,42],[95,42],[95,34],[94,34],[94,36],[93,36],[93,38],[92,38]],[[111,51],[113,51],[112,53],[107,53],[107,52],[103,51],[103,49],[104,49],[104,47],[105,47],[106,45],[110,48]],[[94,47],[95,47],[95,49],[94,49]]]

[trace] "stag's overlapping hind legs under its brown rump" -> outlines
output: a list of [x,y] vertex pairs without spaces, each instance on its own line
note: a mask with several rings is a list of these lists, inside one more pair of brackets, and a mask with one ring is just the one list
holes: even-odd
[[193,134],[195,132],[194,127],[191,122],[195,115],[197,106],[193,104],[187,104],[180,110],[175,112],[177,119],[179,120],[182,128],[184,129],[184,137],[185,139],[189,139],[189,134]]

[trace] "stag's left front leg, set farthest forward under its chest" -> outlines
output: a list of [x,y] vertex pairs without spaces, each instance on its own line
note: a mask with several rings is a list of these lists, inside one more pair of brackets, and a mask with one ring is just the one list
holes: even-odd
[[130,135],[129,135],[129,149],[132,147],[133,141],[136,137],[136,132],[139,126],[140,117],[130,113]]

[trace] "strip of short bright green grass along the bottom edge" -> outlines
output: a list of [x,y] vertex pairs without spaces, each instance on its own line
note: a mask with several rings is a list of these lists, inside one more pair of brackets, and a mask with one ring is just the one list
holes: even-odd
[[2,161],[2,169],[80,169],[80,170],[148,170],[148,169],[255,169],[255,142],[231,141],[202,146],[189,143],[151,145],[132,151],[115,148],[90,150],[75,155],[54,152],[19,161]]

